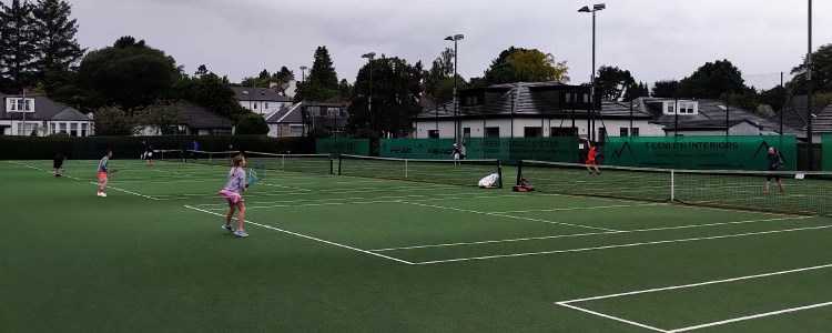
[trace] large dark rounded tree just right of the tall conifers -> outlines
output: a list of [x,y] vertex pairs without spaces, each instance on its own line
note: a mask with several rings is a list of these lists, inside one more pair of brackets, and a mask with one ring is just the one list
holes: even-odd
[[119,104],[132,110],[170,99],[181,79],[172,57],[132,37],[88,53],[78,71],[78,84],[85,91],[84,104],[95,109]]

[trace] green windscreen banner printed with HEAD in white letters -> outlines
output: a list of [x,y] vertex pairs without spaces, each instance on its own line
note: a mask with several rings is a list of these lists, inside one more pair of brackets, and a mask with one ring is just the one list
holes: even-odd
[[454,139],[381,139],[382,158],[450,160],[454,158]]

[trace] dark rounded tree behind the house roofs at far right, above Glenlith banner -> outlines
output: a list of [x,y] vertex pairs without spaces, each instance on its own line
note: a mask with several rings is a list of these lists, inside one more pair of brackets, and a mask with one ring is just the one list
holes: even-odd
[[748,93],[742,73],[728,60],[707,62],[690,77],[679,81],[680,98],[719,99],[726,93]]

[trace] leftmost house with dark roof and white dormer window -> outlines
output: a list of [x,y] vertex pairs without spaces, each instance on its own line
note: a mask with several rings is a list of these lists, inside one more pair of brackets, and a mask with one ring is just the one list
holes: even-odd
[[[26,112],[23,112],[26,110]],[[44,95],[0,94],[0,134],[44,137],[67,133],[88,137],[94,133],[92,115],[57,103]]]

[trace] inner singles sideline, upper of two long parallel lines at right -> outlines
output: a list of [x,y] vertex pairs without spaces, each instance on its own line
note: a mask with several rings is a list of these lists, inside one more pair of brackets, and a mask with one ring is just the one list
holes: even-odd
[[491,244],[491,243],[509,243],[509,242],[522,242],[522,241],[539,241],[539,240],[552,240],[552,239],[571,239],[605,234],[621,234],[621,233],[636,233],[636,232],[650,232],[650,231],[663,231],[663,230],[680,230],[680,229],[693,229],[693,228],[707,228],[707,226],[719,226],[719,225],[733,225],[733,224],[747,224],[747,223],[759,223],[759,222],[772,222],[772,221],[785,221],[785,220],[803,220],[812,219],[815,216],[794,216],[794,218],[778,218],[778,219],[764,219],[764,220],[745,220],[734,222],[717,222],[706,224],[688,224],[677,226],[662,226],[662,228],[648,228],[648,229],[636,229],[636,230],[621,230],[621,231],[609,231],[609,232],[589,232],[589,233],[574,233],[574,234],[557,234],[550,236],[536,236],[536,238],[520,238],[520,239],[507,239],[507,240],[495,240],[495,241],[478,241],[478,242],[458,242],[458,243],[443,243],[443,244],[430,244],[430,245],[415,245],[415,246],[402,246],[402,248],[389,248],[389,249],[377,249],[369,251],[397,251],[397,250],[413,250],[413,249],[427,249],[427,248],[447,248],[447,246],[463,246],[463,245],[478,245],[478,244]]

